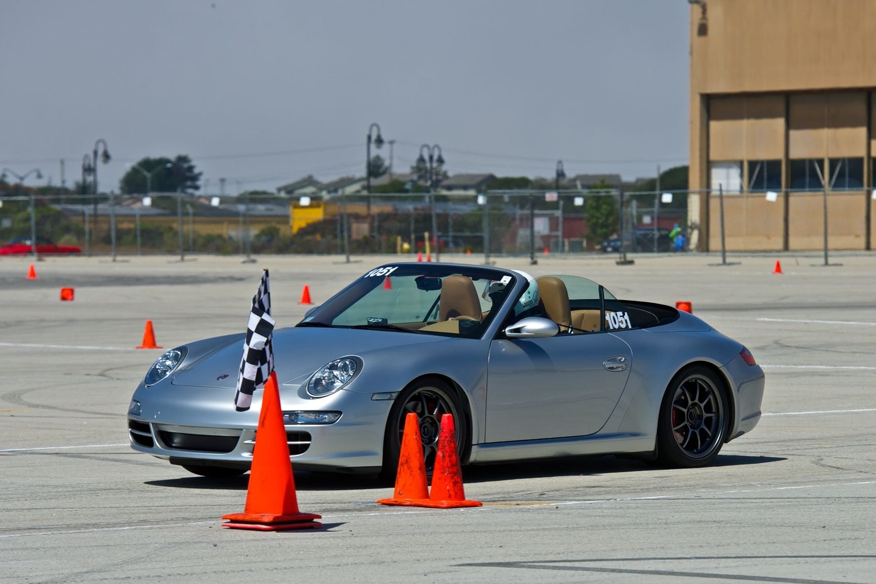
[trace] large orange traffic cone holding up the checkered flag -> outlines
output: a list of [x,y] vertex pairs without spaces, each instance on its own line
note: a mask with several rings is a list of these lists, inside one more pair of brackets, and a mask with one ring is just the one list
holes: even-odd
[[258,414],[256,445],[252,450],[250,484],[246,489],[244,512],[223,515],[223,519],[229,520],[222,524],[223,527],[258,531],[321,527],[321,523],[314,521],[320,519],[320,515],[298,510],[295,478],[286,440],[277,374],[272,372],[265,383],[262,410]]

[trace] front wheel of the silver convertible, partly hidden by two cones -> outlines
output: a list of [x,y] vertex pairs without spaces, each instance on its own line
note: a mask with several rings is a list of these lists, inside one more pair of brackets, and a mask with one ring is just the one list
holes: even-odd
[[383,469],[380,472],[380,478],[386,482],[395,480],[396,469],[399,466],[401,437],[408,412],[416,413],[420,419],[420,440],[423,441],[423,458],[426,461],[427,474],[431,475],[434,466],[438,431],[443,414],[453,415],[456,426],[456,452],[460,459],[465,452],[465,446],[469,443],[469,425],[456,391],[437,377],[418,379],[395,398],[386,421]]

